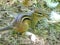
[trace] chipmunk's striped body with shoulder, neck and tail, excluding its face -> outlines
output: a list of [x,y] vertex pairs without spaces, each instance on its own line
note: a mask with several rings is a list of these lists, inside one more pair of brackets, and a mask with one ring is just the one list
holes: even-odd
[[0,28],[0,31],[13,29],[17,32],[24,33],[29,28],[34,28],[39,18],[39,14],[35,10],[27,14],[18,14],[9,26]]

